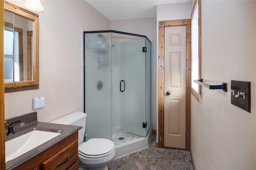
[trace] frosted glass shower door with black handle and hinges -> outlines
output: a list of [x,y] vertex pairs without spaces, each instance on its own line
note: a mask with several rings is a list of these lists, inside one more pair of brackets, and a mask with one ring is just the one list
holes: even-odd
[[146,137],[146,54],[142,52],[145,38],[124,41],[120,46],[121,129]]

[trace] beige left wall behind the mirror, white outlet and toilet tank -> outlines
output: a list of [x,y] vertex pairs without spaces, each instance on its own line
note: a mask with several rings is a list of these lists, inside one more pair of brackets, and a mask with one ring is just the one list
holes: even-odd
[[[18,6],[21,2],[9,1]],[[40,89],[5,94],[5,118],[33,111],[43,96],[39,121],[83,111],[82,30],[108,30],[110,21],[84,0],[41,0],[39,14]]]

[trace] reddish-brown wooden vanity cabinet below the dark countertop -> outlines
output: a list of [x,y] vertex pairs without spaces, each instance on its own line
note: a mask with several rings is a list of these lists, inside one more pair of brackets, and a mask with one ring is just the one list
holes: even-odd
[[78,132],[22,164],[26,170],[78,170]]

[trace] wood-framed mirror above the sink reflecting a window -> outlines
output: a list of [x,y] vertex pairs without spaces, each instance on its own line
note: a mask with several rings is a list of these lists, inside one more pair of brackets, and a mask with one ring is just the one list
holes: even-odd
[[39,88],[38,15],[4,2],[5,93]]

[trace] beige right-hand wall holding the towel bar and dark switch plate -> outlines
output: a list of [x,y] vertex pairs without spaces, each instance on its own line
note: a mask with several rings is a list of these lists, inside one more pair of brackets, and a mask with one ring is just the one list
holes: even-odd
[[[202,87],[191,96],[191,145],[197,170],[256,168],[256,1],[202,1]],[[251,82],[251,113],[230,103],[231,80]]]

